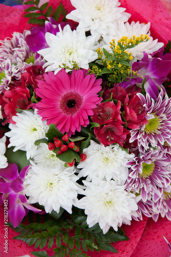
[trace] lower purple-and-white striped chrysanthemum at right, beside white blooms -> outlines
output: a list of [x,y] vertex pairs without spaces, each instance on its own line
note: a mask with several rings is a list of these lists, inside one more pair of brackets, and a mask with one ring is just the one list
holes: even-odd
[[[160,151],[149,149],[140,153],[130,165],[126,186],[129,191],[140,193],[144,202],[153,198],[156,202],[161,197],[158,187],[163,189],[170,184],[170,160]],[[171,187],[170,187],[171,189]]]

